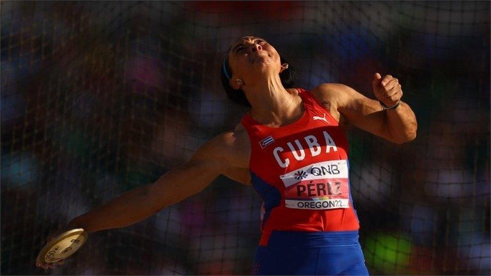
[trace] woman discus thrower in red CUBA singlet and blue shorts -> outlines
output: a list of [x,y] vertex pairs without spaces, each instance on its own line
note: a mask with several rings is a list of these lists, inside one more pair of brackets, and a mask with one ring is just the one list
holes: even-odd
[[400,101],[401,86],[390,75],[374,75],[377,100],[371,100],[338,83],[291,88],[288,70],[264,39],[235,41],[222,80],[229,98],[251,106],[235,129],[209,140],[154,183],[73,219],[67,229],[91,233],[129,226],[224,174],[254,186],[264,200],[253,273],[368,274],[350,195],[346,127],[351,123],[405,143],[416,137],[416,117]]

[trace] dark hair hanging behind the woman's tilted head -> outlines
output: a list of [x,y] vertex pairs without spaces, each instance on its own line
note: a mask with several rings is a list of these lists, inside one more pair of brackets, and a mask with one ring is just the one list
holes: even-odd
[[[280,55],[280,62],[281,64],[283,63],[288,63],[286,59],[281,57]],[[288,65],[288,68],[283,70],[283,72],[280,73],[280,79],[281,79],[281,84],[283,84],[283,87],[285,88],[292,88],[293,84],[295,84],[295,71],[291,68],[291,64]],[[225,71],[226,70],[226,71]],[[232,75],[232,70],[230,66],[228,65],[228,56],[225,57],[223,64],[220,66],[220,75],[222,78],[222,85],[223,88],[225,89],[225,92],[227,93],[228,99],[232,100],[233,102],[251,107],[251,103],[247,100],[246,94],[242,89],[233,89],[230,86],[229,83],[229,78],[226,75],[228,74],[229,76]]]

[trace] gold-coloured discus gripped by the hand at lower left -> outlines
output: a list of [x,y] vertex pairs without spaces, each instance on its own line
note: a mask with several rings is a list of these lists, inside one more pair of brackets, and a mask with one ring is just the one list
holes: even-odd
[[36,266],[44,269],[55,268],[64,263],[64,259],[75,253],[87,241],[88,234],[82,228],[69,228],[60,235],[50,235],[48,243],[41,249]]

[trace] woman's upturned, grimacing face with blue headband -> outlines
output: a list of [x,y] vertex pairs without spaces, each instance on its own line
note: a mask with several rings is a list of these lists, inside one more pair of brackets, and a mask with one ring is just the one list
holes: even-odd
[[279,74],[281,71],[280,55],[276,49],[266,40],[253,36],[242,37],[232,44],[228,64],[232,70],[232,86],[235,86],[237,78],[252,84],[266,74]]

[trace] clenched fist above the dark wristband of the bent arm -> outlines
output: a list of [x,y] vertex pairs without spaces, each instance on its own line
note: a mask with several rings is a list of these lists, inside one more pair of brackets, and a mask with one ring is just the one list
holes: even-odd
[[402,89],[399,80],[391,75],[385,75],[383,78],[379,73],[373,76],[373,94],[377,100],[382,102],[385,107],[393,107],[399,103],[402,98]]

